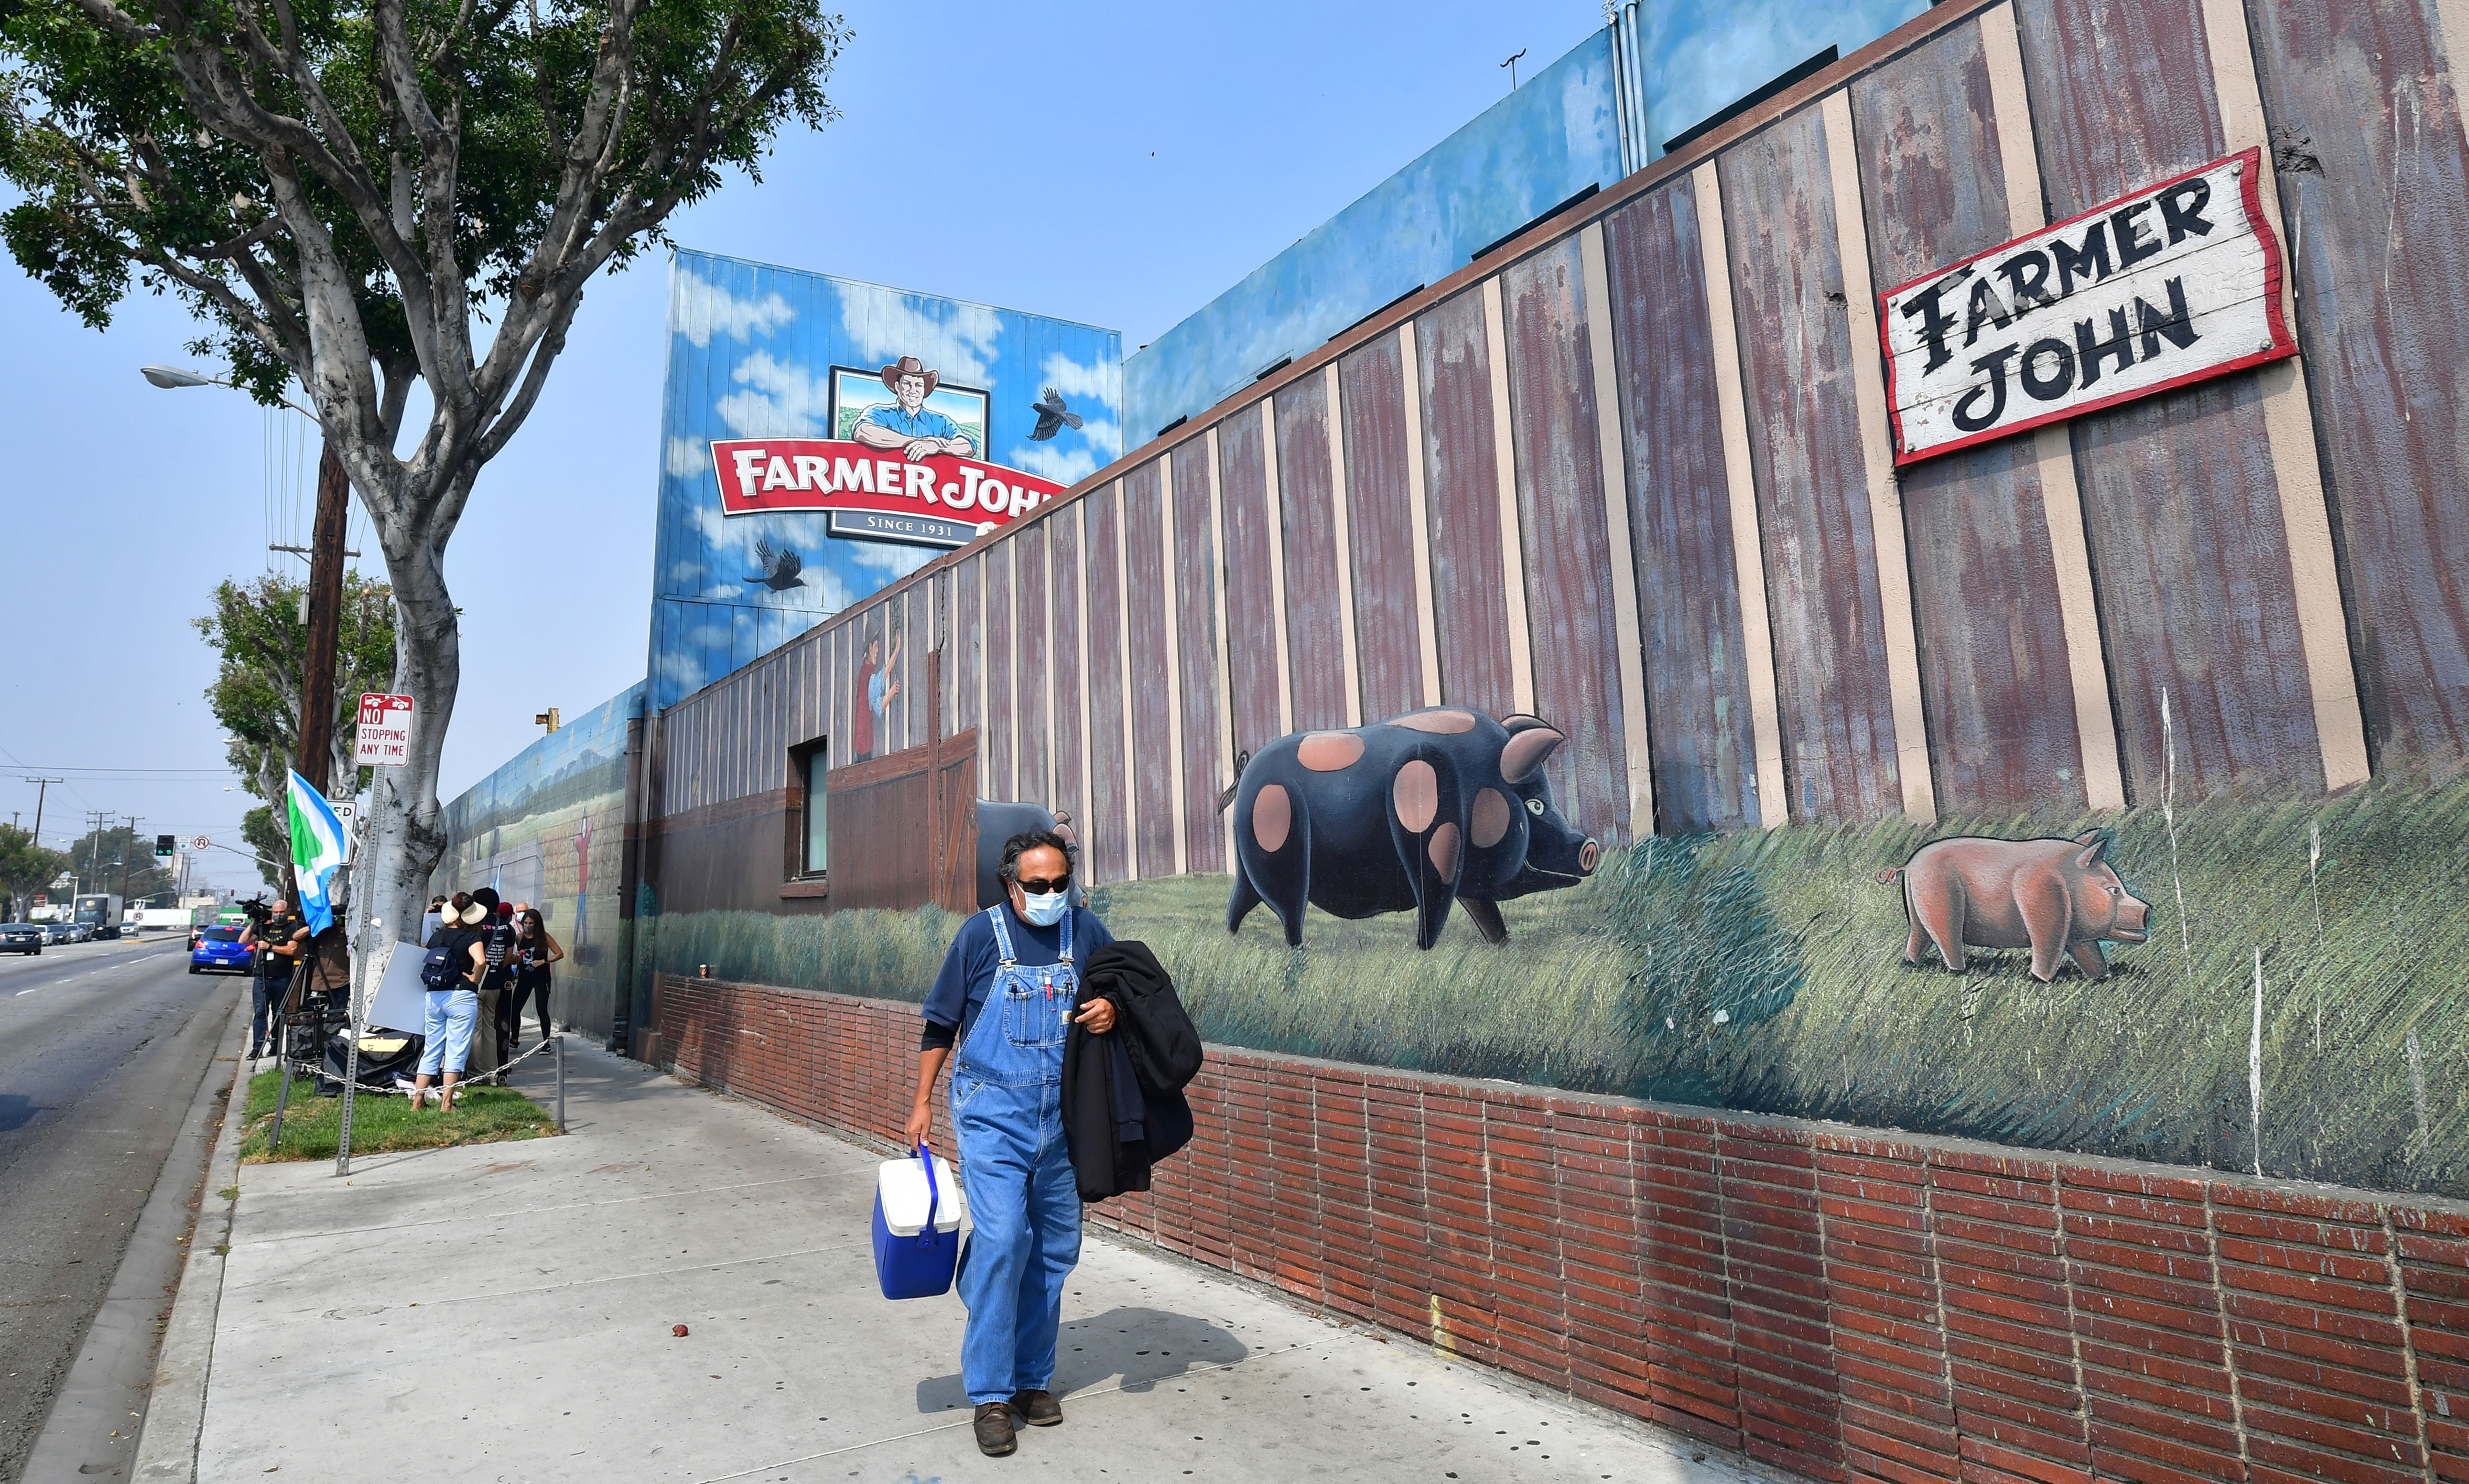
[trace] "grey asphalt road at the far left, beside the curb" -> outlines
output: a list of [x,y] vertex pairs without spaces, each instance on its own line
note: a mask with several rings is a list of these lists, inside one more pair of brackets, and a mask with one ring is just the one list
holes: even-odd
[[190,975],[178,933],[0,958],[0,1479],[25,1469],[244,993]]

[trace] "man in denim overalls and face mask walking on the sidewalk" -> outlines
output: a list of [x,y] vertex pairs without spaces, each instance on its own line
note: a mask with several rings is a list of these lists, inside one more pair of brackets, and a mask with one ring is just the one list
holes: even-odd
[[[1072,906],[1072,854],[1062,835],[1032,830],[1002,844],[1005,901],[970,916],[926,995],[918,1096],[909,1143],[933,1128],[933,1079],[951,1069],[951,1128],[970,1237],[960,1254],[960,1380],[978,1407],[978,1449],[1015,1447],[1012,1412],[1030,1427],[1064,1420],[1054,1403],[1054,1336],[1064,1279],[1079,1262],[1079,1183],[1064,1148],[1064,1032],[1079,965],[1114,941]],[[1076,1012],[1091,1035],[1114,1030],[1114,1005]]]

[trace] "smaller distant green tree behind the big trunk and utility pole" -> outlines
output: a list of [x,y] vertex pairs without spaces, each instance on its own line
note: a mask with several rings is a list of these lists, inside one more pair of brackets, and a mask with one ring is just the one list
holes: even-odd
[[[215,610],[190,620],[220,654],[205,701],[230,738],[225,756],[257,798],[272,807],[274,859],[291,859],[291,805],[284,775],[299,756],[301,669],[309,630],[301,625],[306,588],[267,573],[254,583],[215,585]],[[360,573],[343,575],[343,612],[333,657],[333,751],[314,783],[328,798],[351,798],[368,770],[351,763],[360,691],[395,689],[395,593]]]

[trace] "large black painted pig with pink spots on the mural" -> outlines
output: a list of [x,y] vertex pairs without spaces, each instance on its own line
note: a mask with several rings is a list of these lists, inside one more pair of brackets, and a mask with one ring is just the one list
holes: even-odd
[[1267,901],[1301,943],[1309,901],[1343,919],[1412,911],[1430,948],[1457,901],[1504,943],[1501,901],[1575,886],[1600,854],[1551,805],[1543,758],[1565,741],[1536,716],[1462,706],[1276,738],[1234,783],[1227,931]]

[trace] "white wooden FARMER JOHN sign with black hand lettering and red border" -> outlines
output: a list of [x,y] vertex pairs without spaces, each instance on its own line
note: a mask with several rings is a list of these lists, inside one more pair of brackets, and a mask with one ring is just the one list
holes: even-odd
[[2294,356],[2259,151],[1879,294],[1896,464]]

